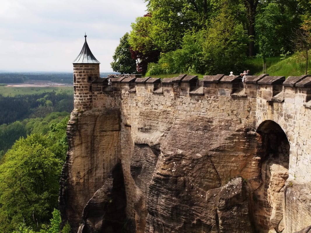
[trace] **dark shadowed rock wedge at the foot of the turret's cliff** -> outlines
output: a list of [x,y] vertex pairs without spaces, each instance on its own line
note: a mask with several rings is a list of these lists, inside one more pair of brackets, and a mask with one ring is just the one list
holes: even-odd
[[122,165],[118,163],[84,207],[78,232],[135,232],[135,223],[128,221],[125,208]]

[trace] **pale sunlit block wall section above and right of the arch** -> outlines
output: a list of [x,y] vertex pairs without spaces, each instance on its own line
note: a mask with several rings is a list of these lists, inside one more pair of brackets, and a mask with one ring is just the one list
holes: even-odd
[[[311,180],[311,111],[305,107],[307,89],[283,87],[284,98],[273,101],[267,86],[258,86],[256,126],[266,120],[275,121],[284,130],[290,143],[289,176],[297,182]],[[256,127],[257,128],[257,127]]]

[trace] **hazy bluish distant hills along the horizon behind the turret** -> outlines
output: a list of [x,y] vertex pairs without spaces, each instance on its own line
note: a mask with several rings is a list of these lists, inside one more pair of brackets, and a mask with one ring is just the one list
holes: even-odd
[[[116,72],[100,73],[101,77],[109,74],[119,74]],[[0,72],[0,83],[24,83],[28,80],[45,80],[58,83],[73,83],[72,72]]]

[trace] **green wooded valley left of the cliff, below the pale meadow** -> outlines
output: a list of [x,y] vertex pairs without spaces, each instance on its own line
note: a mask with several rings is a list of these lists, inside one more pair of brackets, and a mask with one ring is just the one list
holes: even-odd
[[0,94],[0,106],[0,232],[70,232],[57,208],[73,90]]

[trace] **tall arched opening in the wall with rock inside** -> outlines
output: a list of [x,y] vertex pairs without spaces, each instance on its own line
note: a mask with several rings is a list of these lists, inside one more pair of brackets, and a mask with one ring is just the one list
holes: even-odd
[[264,121],[257,129],[262,138],[261,183],[253,191],[254,220],[258,232],[285,232],[283,198],[288,178],[288,139],[274,121]]

